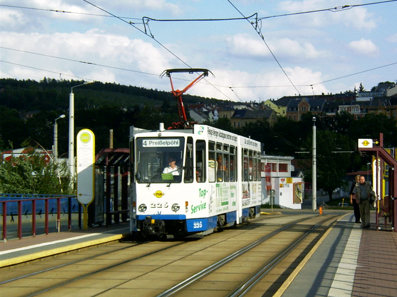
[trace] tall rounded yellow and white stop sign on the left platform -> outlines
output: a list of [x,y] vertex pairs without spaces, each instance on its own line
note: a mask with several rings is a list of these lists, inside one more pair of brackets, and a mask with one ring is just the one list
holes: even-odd
[[88,205],[95,191],[95,136],[89,129],[77,133],[77,200],[83,206],[83,229],[88,229]]

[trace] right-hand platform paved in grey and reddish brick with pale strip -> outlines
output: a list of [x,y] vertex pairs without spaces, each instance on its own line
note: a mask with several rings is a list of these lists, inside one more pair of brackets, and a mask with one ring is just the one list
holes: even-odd
[[338,221],[274,296],[397,296],[397,233],[376,230],[372,212],[369,229],[352,213]]

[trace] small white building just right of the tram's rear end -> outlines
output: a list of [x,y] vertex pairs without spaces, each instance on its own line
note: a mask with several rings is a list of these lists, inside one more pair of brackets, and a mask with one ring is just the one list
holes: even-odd
[[[293,157],[262,155],[262,204],[301,209],[305,198],[302,172],[295,172]],[[294,174],[294,176],[292,176]]]

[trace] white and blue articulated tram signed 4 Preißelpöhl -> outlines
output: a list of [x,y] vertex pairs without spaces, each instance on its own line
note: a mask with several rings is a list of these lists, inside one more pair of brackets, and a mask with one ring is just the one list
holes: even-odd
[[260,142],[206,125],[160,124],[156,131],[132,127],[130,147],[132,232],[209,234],[259,216]]

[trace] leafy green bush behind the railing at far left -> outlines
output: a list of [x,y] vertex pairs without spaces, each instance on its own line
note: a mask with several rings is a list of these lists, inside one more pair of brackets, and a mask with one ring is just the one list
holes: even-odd
[[0,163],[0,193],[72,195],[73,183],[66,163],[47,163],[32,149]]

